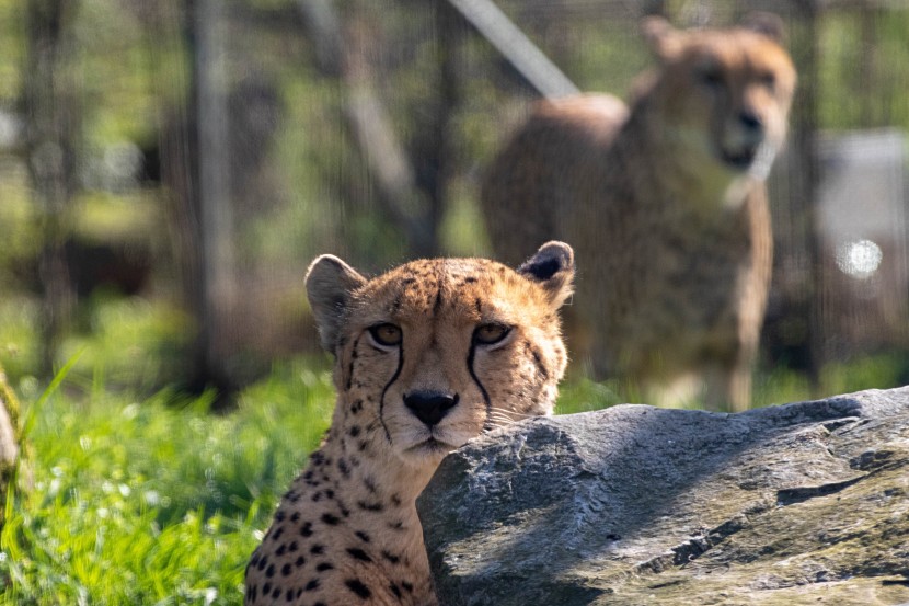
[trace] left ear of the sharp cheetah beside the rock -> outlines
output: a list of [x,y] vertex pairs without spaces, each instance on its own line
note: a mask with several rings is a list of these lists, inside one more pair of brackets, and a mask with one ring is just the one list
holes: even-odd
[[332,254],[323,254],[307,270],[307,298],[326,352],[335,353],[341,322],[350,295],[366,284],[350,265]]

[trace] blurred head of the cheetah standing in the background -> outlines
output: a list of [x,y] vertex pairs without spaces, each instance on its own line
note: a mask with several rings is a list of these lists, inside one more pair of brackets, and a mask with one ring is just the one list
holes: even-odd
[[[759,19],[759,21],[758,21]],[[686,149],[732,173],[764,179],[786,134],[795,68],[782,23],[760,15],[730,30],[678,31],[660,18],[644,34],[660,59],[665,127]]]

